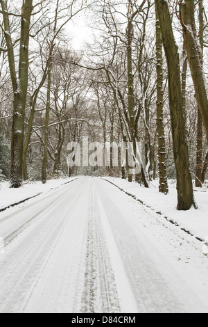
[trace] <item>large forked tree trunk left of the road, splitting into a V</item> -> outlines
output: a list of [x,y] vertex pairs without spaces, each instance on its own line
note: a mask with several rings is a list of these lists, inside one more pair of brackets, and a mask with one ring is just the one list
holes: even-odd
[[12,79],[13,120],[11,137],[11,171],[10,183],[14,188],[19,188],[22,183],[22,155],[24,145],[24,118],[26,107],[26,95],[28,89],[28,47],[29,31],[31,26],[31,14],[33,11],[33,0],[23,2],[21,8],[21,33],[19,45],[19,77],[17,79],[15,69],[15,54],[10,33],[10,21],[7,3],[1,0],[3,13],[3,25],[5,30],[6,45],[8,49],[8,62],[10,76]]

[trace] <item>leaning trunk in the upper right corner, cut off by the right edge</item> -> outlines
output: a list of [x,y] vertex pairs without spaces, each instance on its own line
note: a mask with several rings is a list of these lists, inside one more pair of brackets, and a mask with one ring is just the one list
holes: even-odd
[[198,40],[194,13],[194,0],[184,0],[180,2],[180,18],[184,34],[184,42],[187,49],[189,67],[195,88],[196,100],[202,115],[208,143],[207,81],[203,70],[202,48]]

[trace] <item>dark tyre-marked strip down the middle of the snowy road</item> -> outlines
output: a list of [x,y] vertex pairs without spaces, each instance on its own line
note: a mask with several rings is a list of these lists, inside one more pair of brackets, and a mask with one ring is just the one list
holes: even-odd
[[89,193],[89,203],[85,284],[81,312],[121,312],[94,182]]

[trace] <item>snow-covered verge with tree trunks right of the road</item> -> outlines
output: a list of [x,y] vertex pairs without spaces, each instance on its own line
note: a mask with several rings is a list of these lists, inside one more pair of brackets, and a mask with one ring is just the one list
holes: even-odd
[[190,234],[202,240],[208,237],[208,188],[204,186],[202,189],[194,188],[194,196],[198,205],[198,209],[193,207],[187,212],[177,210],[177,191],[175,182],[169,181],[169,193],[164,195],[159,193],[159,182],[153,181],[149,189],[135,182],[121,180],[121,178],[105,177],[105,180],[112,182],[126,193],[135,196],[137,200],[144,202],[144,205],[151,207],[155,212],[162,214],[168,221],[172,221],[179,225],[180,228],[187,230]]

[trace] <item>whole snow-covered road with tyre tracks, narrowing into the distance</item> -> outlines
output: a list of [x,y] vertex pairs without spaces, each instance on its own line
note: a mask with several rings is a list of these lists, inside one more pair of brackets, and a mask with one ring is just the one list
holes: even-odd
[[208,312],[202,244],[104,180],[1,212],[0,237],[0,312]]

